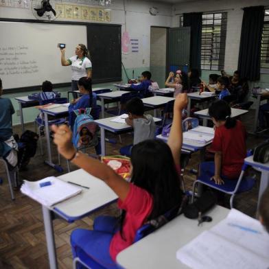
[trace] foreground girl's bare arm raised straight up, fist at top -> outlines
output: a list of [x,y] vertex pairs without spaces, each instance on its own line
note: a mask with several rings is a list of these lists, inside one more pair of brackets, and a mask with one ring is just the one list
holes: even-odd
[[169,134],[168,145],[172,151],[175,165],[180,165],[180,150],[182,147],[182,110],[187,106],[187,93],[180,93],[176,96],[174,103],[174,117]]

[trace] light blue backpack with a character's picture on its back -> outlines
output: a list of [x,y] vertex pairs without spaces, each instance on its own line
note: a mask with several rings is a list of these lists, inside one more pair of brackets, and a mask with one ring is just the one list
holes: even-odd
[[84,148],[97,145],[96,136],[97,124],[95,124],[91,113],[91,108],[80,108],[74,110],[75,123],[73,126],[72,142],[75,148]]

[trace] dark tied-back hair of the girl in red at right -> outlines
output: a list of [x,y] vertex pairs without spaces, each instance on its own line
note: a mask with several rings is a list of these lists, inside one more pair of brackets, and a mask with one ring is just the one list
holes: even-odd
[[227,129],[236,126],[236,119],[231,117],[231,107],[224,100],[215,101],[209,106],[209,116],[216,121],[226,121],[224,126]]

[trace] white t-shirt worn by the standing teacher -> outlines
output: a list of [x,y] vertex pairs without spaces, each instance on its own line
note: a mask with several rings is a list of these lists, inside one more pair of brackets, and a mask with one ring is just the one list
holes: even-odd
[[78,58],[78,56],[73,56],[68,59],[71,63],[72,69],[72,80],[79,80],[82,77],[87,76],[87,69],[91,69],[91,61],[89,58]]

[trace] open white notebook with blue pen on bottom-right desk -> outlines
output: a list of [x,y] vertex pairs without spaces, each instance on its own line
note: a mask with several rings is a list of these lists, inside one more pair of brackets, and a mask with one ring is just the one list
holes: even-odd
[[190,268],[268,269],[269,235],[258,220],[231,209],[229,215],[176,252]]

